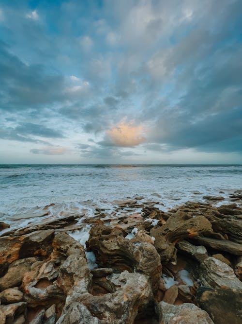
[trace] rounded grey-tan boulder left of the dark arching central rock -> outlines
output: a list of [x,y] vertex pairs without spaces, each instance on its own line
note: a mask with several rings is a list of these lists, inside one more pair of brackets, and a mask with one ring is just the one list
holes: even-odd
[[61,264],[57,283],[69,296],[74,290],[78,290],[79,294],[87,292],[91,284],[91,275],[86,258],[78,255],[68,256]]

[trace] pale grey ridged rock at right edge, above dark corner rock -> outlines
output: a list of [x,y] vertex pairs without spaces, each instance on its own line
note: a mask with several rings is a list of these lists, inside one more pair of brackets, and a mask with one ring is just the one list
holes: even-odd
[[233,269],[211,256],[200,264],[199,280],[204,287],[242,289]]

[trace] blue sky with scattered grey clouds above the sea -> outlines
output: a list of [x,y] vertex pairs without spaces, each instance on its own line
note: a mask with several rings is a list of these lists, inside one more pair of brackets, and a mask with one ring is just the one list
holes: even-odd
[[0,0],[0,163],[242,164],[242,1]]

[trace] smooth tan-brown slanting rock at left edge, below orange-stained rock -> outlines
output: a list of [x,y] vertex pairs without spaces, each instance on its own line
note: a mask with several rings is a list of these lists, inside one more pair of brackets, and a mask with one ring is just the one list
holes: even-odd
[[30,271],[31,265],[37,260],[37,257],[27,257],[13,262],[8,272],[0,278],[0,291],[21,285],[24,274]]

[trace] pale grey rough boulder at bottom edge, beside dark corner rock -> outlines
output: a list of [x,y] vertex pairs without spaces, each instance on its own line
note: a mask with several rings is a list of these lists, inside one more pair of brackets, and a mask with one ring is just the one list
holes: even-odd
[[160,323],[165,324],[213,324],[205,310],[193,304],[182,304],[180,306],[160,302],[156,306]]

